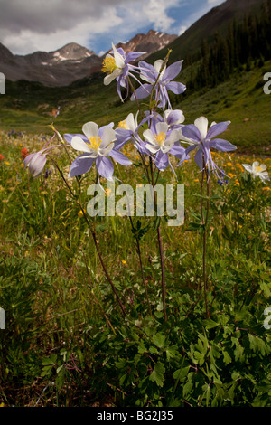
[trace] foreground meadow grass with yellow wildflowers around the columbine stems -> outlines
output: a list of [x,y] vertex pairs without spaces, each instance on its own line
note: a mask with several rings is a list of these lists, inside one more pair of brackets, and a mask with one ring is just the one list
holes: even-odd
[[[41,138],[30,135],[18,136],[15,133],[7,135],[5,132],[0,135],[0,152],[4,156],[0,164],[0,202],[3,206],[0,232],[2,257],[0,305],[5,308],[7,318],[6,330],[1,331],[0,335],[2,346],[0,402],[5,406],[30,407],[135,406],[140,403],[149,405],[150,402],[154,406],[161,403],[164,405],[164,402],[166,405],[178,406],[183,402],[201,405],[199,396],[205,400],[204,390],[198,395],[198,392],[191,393],[191,397],[185,390],[190,385],[190,380],[198,379],[197,376],[201,376],[202,386],[205,378],[210,379],[205,376],[206,372],[202,372],[205,363],[201,371],[200,362],[200,374],[192,373],[194,354],[189,349],[189,345],[197,346],[203,314],[201,302],[199,304],[197,299],[201,279],[201,232],[189,231],[190,223],[195,222],[195,214],[199,213],[198,169],[192,161],[185,162],[177,169],[179,183],[185,185],[185,223],[176,228],[169,228],[166,225],[163,227],[170,317],[170,323],[165,328],[161,317],[163,314],[160,262],[155,231],[147,231],[141,240],[145,277],[154,320],[145,313],[145,288],[140,281],[135,240],[128,219],[106,215],[96,220],[100,250],[129,311],[128,318],[123,321],[116,300],[112,298],[111,288],[100,266],[83,215],[79,207],[72,202],[60,176],[51,167],[52,173],[49,178],[41,176],[36,180],[32,178],[28,180],[28,175],[23,169],[22,149],[25,147],[29,151],[37,150]],[[126,149],[126,155],[132,157],[136,164],[138,158],[133,151]],[[238,153],[215,157],[231,178],[226,186],[220,187],[215,182],[211,184],[212,195],[219,198],[217,207],[213,206],[209,233],[210,251],[214,252],[209,265],[210,280],[215,291],[229,298],[226,297],[223,302],[220,300],[220,303],[217,301],[219,305],[213,305],[214,312],[211,317],[213,321],[218,322],[221,311],[224,310],[223,316],[226,315],[225,320],[229,320],[229,326],[233,320],[237,321],[240,328],[252,326],[251,333],[258,335],[257,338],[264,344],[263,354],[257,354],[258,348],[256,354],[253,354],[252,345],[250,349],[246,348],[246,353],[247,350],[249,353],[244,358],[244,362],[247,362],[246,367],[241,362],[242,357],[238,358],[237,351],[234,352],[233,348],[232,351],[227,349],[227,353],[223,354],[226,356],[225,364],[218,375],[223,385],[225,384],[223,391],[226,391],[229,382],[235,382],[227,376],[228,369],[231,373],[238,370],[242,379],[245,379],[243,374],[248,369],[247,374],[250,371],[251,379],[259,386],[264,385],[264,377],[262,373],[257,374],[254,362],[259,356],[259,361],[266,364],[268,353],[266,335],[263,332],[265,329],[261,324],[259,312],[268,306],[270,299],[270,284],[266,269],[270,261],[268,257],[270,187],[258,183],[257,186],[252,185],[253,193],[251,188],[248,190],[248,184],[255,182],[246,183],[242,177],[244,175],[242,164],[251,164],[253,159],[258,159],[270,169],[271,160],[260,156],[240,156]],[[68,178],[67,161],[61,157],[59,161],[64,175]],[[140,168],[128,167],[124,175],[124,170],[116,167],[116,175],[125,179],[126,183],[145,183]],[[85,207],[88,202],[86,189],[92,177],[94,178],[94,175],[89,175],[88,179],[82,182],[82,203]],[[163,177],[167,183],[173,183],[170,171],[164,172]],[[73,180],[69,181],[70,184],[75,184]],[[238,194],[242,194],[242,199],[238,199]],[[245,204],[246,208],[243,208]],[[143,219],[143,226],[146,223]],[[256,281],[261,287],[256,289],[255,293],[251,293]],[[236,294],[235,301],[230,297],[232,285],[234,285],[233,293]],[[229,288],[225,289],[227,286]],[[221,288],[224,288],[222,292]],[[238,290],[241,294],[238,294]],[[243,296],[247,293],[248,306],[245,316],[239,316],[239,307],[234,307],[234,303],[238,303],[238,297],[242,303]],[[231,305],[233,312],[236,311],[235,319],[227,316],[229,314],[227,303]],[[197,311],[197,308],[200,310]],[[249,313],[248,308],[254,309],[254,313]],[[253,327],[256,323],[246,326],[248,320],[246,317],[250,315],[255,321],[256,314],[257,330]],[[185,318],[187,315],[191,315],[189,322]],[[200,320],[199,327],[197,327],[198,320]],[[182,334],[178,336],[179,326]],[[196,326],[197,329],[193,341],[192,326]],[[221,329],[224,327],[225,325]],[[246,331],[235,330],[238,327],[235,326],[230,331],[224,329],[225,341],[227,332],[233,338],[232,341],[235,341],[234,338],[238,338],[237,341],[243,341],[244,337],[246,339]],[[144,329],[144,339],[136,339],[138,335],[142,338],[140,329],[142,331]],[[185,334],[185,329],[189,334]],[[220,349],[219,346],[215,348],[216,342],[210,335],[211,329],[212,326],[210,330],[208,327],[206,330],[210,338],[209,344],[213,345],[214,350]],[[167,347],[163,333],[168,335],[168,331],[171,336],[167,338],[170,338],[171,345]],[[242,332],[243,335],[238,335],[238,332]],[[188,335],[190,336],[186,343]],[[152,341],[155,341],[156,345]],[[180,348],[176,351],[177,345],[180,344],[188,353],[188,357],[183,358],[183,367],[185,371],[191,371],[183,376],[182,384],[173,379],[173,375],[176,375],[180,367],[180,354],[178,354]],[[227,347],[228,343],[225,344]],[[153,361],[156,358],[155,365],[145,363],[148,358],[145,357],[148,345],[150,345],[148,348],[150,358]],[[198,350],[201,351],[200,348]],[[189,360],[190,355],[192,358]],[[236,355],[238,360],[229,361],[228,355]],[[127,370],[138,361],[141,362],[141,366],[138,364],[138,369],[129,375]],[[238,369],[240,362],[241,366]],[[270,373],[269,366],[268,363],[263,366],[267,375]],[[152,379],[148,378],[149,373],[145,372],[145,368],[154,371]],[[167,373],[169,376],[166,378]],[[138,378],[139,382],[151,384],[152,387],[147,387],[148,390],[145,392],[137,382]],[[173,385],[174,382],[176,390],[173,400],[170,401],[166,396],[166,401],[163,401],[165,396],[163,394],[167,392],[172,394],[168,385]],[[134,390],[131,390],[132,388]],[[247,404],[244,401],[246,397],[243,399],[238,392],[246,390],[241,385],[234,394],[228,395],[233,405],[244,403],[270,405],[270,398],[266,392],[255,390],[253,397],[247,394]],[[227,405],[223,397],[216,395],[212,389],[210,400],[213,401],[213,405],[216,405],[216,402],[219,405],[225,403]],[[204,401],[206,402],[208,404],[208,398]]]

